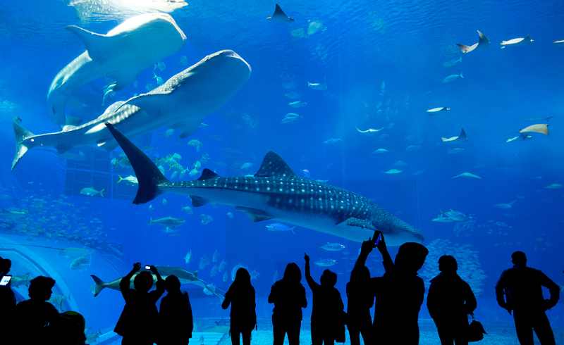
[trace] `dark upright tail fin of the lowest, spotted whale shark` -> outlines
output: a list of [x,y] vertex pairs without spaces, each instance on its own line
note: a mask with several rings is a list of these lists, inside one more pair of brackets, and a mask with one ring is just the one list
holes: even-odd
[[106,127],[110,130],[111,134],[118,142],[125,155],[135,171],[135,176],[139,182],[139,189],[137,189],[137,195],[133,199],[135,205],[141,203],[147,203],[157,196],[164,194],[164,187],[168,187],[170,181],[166,180],[166,177],[161,173],[157,165],[151,161],[151,158],[147,157],[137,146],[129,141],[125,135],[121,134],[114,128],[114,125],[106,123]]

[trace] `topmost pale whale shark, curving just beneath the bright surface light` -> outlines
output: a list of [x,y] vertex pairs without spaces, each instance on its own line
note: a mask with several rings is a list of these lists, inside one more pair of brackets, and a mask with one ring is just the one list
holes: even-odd
[[68,124],[65,105],[75,89],[104,76],[116,80],[111,89],[123,89],[142,70],[175,53],[186,41],[180,27],[166,13],[137,15],[114,27],[106,35],[74,25],[66,29],[84,42],[87,51],[66,65],[49,87],[47,114],[61,129]]

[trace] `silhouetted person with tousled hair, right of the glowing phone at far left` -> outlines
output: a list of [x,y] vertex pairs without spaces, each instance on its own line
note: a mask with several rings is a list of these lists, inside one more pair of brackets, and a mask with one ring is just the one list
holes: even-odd
[[51,344],[51,327],[59,322],[59,312],[49,302],[55,280],[50,277],[35,277],[28,289],[30,299],[21,301],[16,306],[16,322],[19,331],[25,337],[26,344]]

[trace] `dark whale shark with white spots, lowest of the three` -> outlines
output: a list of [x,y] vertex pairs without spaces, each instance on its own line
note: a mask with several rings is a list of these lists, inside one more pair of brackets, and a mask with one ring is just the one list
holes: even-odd
[[414,227],[364,196],[298,177],[274,152],[266,154],[252,177],[220,177],[204,169],[196,181],[170,182],[145,153],[113,125],[106,126],[137,175],[135,204],[175,193],[190,196],[194,207],[223,203],[243,211],[251,222],[279,220],[355,242],[365,241],[374,230],[383,232],[391,246],[424,240]]

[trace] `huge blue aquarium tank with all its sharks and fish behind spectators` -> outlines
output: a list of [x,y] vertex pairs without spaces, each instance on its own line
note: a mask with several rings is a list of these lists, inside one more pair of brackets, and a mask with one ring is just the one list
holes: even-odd
[[[188,291],[194,341],[228,344],[221,301],[243,267],[266,343],[288,263],[336,272],[346,308],[381,230],[392,258],[429,249],[425,298],[454,256],[486,337],[517,344],[494,290],[511,254],[564,289],[563,15],[561,1],[2,1],[0,256],[18,301],[53,277],[90,344],[118,344],[114,280],[157,265]],[[562,302],[546,315],[564,341]],[[426,300],[419,327],[439,344]]]

